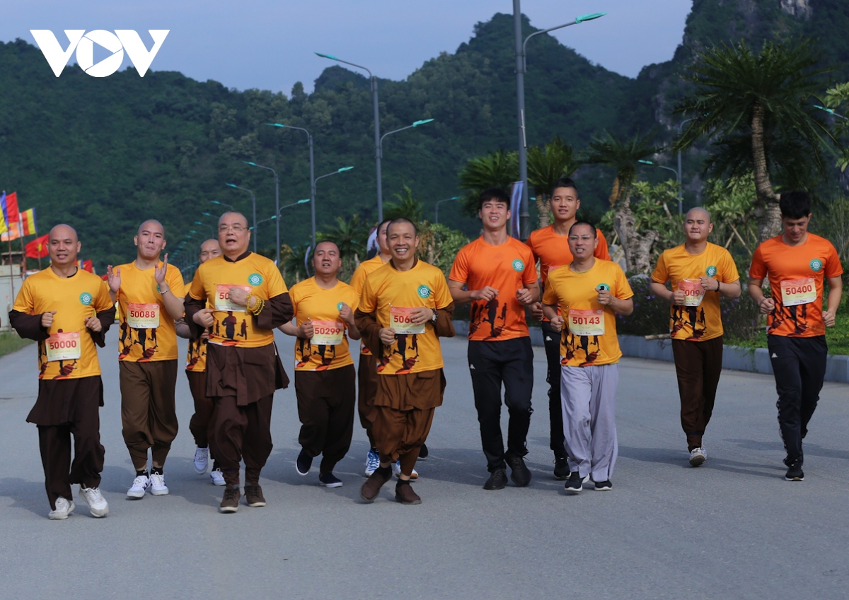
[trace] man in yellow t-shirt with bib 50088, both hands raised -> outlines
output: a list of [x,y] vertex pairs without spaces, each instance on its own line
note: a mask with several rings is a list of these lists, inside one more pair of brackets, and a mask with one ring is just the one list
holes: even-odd
[[[136,259],[106,269],[110,295],[118,303],[121,337],[118,368],[121,383],[121,433],[136,477],[127,497],[168,493],[165,460],[177,436],[177,330],[183,317],[183,275],[168,264],[165,228],[149,219],[132,238]],[[151,454],[148,473],[148,451]]]

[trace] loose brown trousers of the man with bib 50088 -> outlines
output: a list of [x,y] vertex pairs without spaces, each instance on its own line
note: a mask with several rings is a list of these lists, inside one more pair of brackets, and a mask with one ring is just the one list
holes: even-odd
[[132,466],[147,469],[148,450],[153,462],[165,464],[171,442],[177,437],[177,360],[118,363],[121,381],[121,433],[130,451]]

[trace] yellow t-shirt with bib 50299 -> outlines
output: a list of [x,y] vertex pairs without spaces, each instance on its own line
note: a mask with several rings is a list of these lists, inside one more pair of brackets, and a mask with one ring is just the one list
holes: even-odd
[[312,321],[312,340],[295,340],[295,370],[324,371],[354,364],[348,349],[348,324],[339,316],[342,303],[357,310],[359,297],[352,286],[337,281],[329,290],[319,287],[315,277],[292,286],[289,291],[295,322],[300,327]]

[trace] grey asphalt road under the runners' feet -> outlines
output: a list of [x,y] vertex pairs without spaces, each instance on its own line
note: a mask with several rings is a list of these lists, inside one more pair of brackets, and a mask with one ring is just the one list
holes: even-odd
[[[289,369],[292,344],[279,337]],[[485,492],[465,348],[443,342],[448,386],[430,458],[418,465],[420,506],[395,503],[391,485],[377,502],[359,501],[367,442],[358,425],[336,469],[344,487],[319,487],[318,461],[297,475],[290,388],[275,397],[274,450],[261,481],[267,507],[218,514],[222,488],[192,468],[182,373],[181,429],[166,464],[171,494],[125,499],[133,470],[110,331],[101,350],[110,515],[93,519],[77,502],[66,521],[47,519],[37,431],[25,423],[37,392],[35,347],[0,358],[0,598],[849,597],[849,386],[825,384],[806,479],[789,483],[771,376],[722,375],[709,459],[693,469],[674,367],[623,359],[614,488],[565,496],[551,475],[545,363],[535,348],[533,481]]]

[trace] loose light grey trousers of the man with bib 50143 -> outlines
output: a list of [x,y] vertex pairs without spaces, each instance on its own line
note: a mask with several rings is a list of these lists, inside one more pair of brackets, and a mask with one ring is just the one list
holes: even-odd
[[560,404],[569,470],[608,481],[619,453],[616,384],[619,364],[560,367]]

